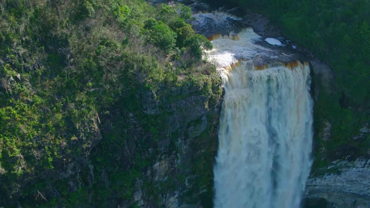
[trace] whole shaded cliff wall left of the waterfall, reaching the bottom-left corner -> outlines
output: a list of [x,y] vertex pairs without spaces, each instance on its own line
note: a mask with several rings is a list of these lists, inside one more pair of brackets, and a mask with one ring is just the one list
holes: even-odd
[[96,113],[74,144],[85,147],[84,155],[71,154],[69,162],[54,162],[37,177],[24,175],[6,203],[211,207],[221,79],[199,75],[156,90],[144,87],[137,100]]

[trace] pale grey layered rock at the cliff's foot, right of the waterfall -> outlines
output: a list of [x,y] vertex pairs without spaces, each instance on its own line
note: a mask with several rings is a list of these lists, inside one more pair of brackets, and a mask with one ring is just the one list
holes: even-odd
[[335,207],[370,207],[370,160],[333,161],[323,176],[307,181],[306,197],[323,198]]

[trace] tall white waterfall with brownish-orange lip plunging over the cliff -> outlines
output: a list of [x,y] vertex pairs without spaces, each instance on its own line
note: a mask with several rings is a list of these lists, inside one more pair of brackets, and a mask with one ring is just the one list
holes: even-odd
[[297,208],[312,160],[310,69],[255,66],[270,48],[246,29],[212,41],[225,97],[214,166],[215,208]]

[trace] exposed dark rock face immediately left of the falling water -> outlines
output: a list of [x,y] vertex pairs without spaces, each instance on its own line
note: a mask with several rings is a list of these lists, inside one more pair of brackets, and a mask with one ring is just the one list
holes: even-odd
[[[132,203],[139,207],[211,206],[221,110],[220,84],[219,77],[213,77],[196,85],[143,93],[143,112],[162,124],[155,123],[160,127],[158,131],[151,129],[145,134],[147,130],[136,115],[129,115],[131,118],[127,121],[136,124],[128,130],[130,140],[150,142],[154,138],[156,141],[147,147],[138,140],[128,142],[131,150],[125,158],[139,154],[141,160],[148,160],[149,164],[141,169],[141,176],[135,181],[133,199],[122,202],[122,207]],[[144,152],[143,148],[146,148]],[[133,167],[135,162],[131,159],[128,166]]]

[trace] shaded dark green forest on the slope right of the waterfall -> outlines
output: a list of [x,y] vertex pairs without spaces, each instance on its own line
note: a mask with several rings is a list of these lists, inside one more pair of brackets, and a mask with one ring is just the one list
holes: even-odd
[[[330,160],[369,154],[370,139],[354,140],[353,137],[370,122],[370,2],[229,1],[265,14],[282,30],[285,38],[312,51],[334,73],[334,85],[329,91],[320,89],[315,101],[315,137],[317,144],[326,150],[315,153],[313,170],[326,166]],[[332,135],[329,141],[322,141],[320,130],[327,122],[332,125]]]

